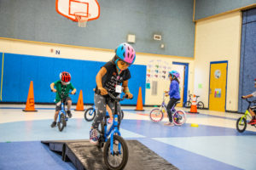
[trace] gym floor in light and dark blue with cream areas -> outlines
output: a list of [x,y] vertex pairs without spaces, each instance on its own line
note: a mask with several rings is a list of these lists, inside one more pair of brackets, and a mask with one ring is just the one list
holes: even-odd
[[[38,112],[23,112],[24,108],[25,105],[0,105],[0,169],[75,169],[40,141],[89,139],[91,122],[84,120],[84,112],[73,111],[67,128],[59,132],[57,127],[50,127],[54,105],[36,105]],[[244,133],[238,133],[236,119],[241,115],[198,110],[200,114],[187,114],[182,127],[166,127],[166,118],[163,122],[150,122],[148,113],[152,108],[133,111],[134,108],[122,107],[122,136],[137,139],[179,169],[256,168],[256,128],[248,126]],[[198,123],[199,127],[191,127],[191,123]]]

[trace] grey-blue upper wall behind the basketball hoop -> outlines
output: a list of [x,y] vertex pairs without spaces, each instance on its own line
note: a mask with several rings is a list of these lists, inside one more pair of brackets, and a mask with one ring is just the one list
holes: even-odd
[[[193,0],[98,0],[98,20],[80,28],[55,11],[55,0],[1,0],[0,37],[114,49],[136,35],[137,52],[193,57]],[[162,36],[153,40],[154,34]],[[165,48],[160,48],[160,44]],[[93,57],[92,57],[93,58]],[[93,59],[92,59],[93,60]]]

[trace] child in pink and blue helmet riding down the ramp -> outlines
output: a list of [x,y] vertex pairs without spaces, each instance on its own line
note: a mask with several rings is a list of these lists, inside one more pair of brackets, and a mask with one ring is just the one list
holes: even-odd
[[[98,143],[97,129],[103,117],[106,116],[106,105],[114,112],[113,101],[108,98],[108,93],[116,97],[122,93],[123,88],[123,92],[127,94],[128,99],[133,97],[128,88],[128,80],[131,78],[128,67],[134,63],[135,59],[135,50],[131,45],[121,43],[118,48],[115,49],[113,59],[103,65],[101,70],[97,73],[96,91],[100,90],[101,94],[94,95],[96,117],[90,128],[90,143]],[[119,102],[117,111],[120,115]]]

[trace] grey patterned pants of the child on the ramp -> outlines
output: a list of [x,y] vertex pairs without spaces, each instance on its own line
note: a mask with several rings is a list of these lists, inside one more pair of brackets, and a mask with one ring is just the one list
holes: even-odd
[[[114,103],[113,101],[109,99],[106,99],[100,94],[94,94],[94,103],[96,107],[96,117],[94,118],[94,121],[92,122],[93,128],[98,128],[99,124],[102,122],[103,117],[106,116],[106,105],[109,106],[109,108],[112,111],[112,114],[114,113]],[[120,115],[120,103],[117,103],[117,112]],[[119,118],[120,119],[120,118]],[[119,120],[120,124],[120,120]]]

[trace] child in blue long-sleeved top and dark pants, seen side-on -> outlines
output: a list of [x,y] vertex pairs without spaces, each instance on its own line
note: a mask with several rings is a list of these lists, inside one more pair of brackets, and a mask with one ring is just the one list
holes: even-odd
[[174,126],[174,123],[172,122],[172,106],[175,105],[175,103],[180,99],[180,94],[179,94],[179,73],[177,71],[169,71],[169,76],[171,85],[170,85],[170,90],[166,91],[166,96],[170,96],[169,103],[166,107],[168,117],[169,117],[169,122],[166,122],[166,126]]

